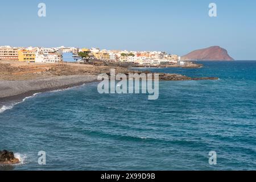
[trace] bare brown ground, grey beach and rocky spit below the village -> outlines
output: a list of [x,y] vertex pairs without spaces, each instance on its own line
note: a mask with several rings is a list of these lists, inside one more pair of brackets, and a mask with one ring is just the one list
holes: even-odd
[[[15,61],[0,64],[0,109],[13,105],[35,93],[67,89],[97,81],[100,73],[150,73],[123,67],[95,67],[81,64],[26,64]],[[188,77],[176,73],[159,73],[160,81],[217,80],[217,77]],[[2,110],[5,110],[3,108]]]

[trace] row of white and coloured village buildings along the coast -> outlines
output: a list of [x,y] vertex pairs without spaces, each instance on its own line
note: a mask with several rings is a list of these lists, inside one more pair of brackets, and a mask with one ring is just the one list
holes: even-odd
[[0,60],[13,60],[27,63],[127,63],[144,67],[159,65],[183,66],[188,61],[178,55],[160,51],[118,51],[99,48],[75,47],[0,47]]

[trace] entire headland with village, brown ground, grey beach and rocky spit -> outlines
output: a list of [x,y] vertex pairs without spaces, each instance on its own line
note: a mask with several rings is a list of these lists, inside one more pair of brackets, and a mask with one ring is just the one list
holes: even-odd
[[[150,73],[135,67],[199,68],[178,55],[158,51],[107,51],[98,48],[0,47],[0,101],[31,93],[47,92],[98,81],[98,75]],[[216,77],[188,77],[158,73],[160,81],[217,80]],[[24,95],[25,94],[25,95]],[[1,103],[0,103],[1,105]]]

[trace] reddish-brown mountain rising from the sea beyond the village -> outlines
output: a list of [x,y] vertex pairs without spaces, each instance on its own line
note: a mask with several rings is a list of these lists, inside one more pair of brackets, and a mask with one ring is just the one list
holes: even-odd
[[201,60],[201,61],[233,61],[234,59],[229,56],[226,49],[220,46],[208,47],[192,51],[183,56],[185,60]]

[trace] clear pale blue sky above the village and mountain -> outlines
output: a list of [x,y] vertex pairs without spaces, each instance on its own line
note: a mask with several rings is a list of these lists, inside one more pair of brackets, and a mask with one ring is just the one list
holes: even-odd
[[[38,4],[47,16],[39,18]],[[210,18],[208,5],[217,5]],[[256,1],[2,1],[0,44],[166,51],[185,55],[221,46],[237,60],[256,60]]]

